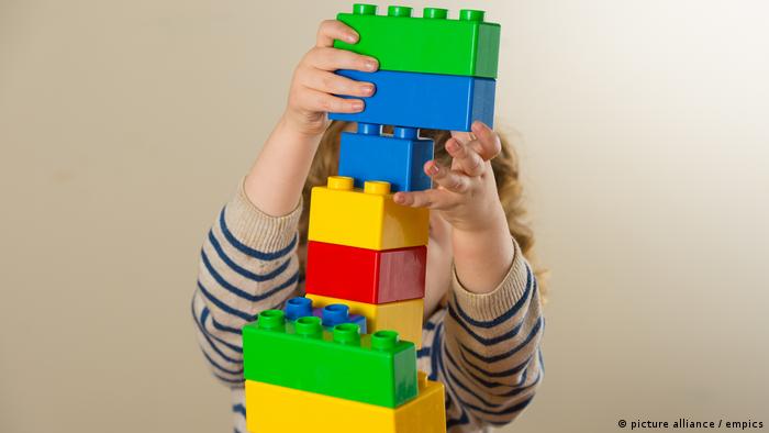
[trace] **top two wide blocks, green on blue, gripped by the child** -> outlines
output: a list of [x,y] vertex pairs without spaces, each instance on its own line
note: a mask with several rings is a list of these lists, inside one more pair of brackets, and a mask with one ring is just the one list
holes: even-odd
[[390,7],[387,15],[371,4],[353,9],[336,18],[358,32],[358,43],[334,46],[376,57],[379,70],[338,74],[377,90],[364,112],[331,119],[452,131],[469,131],[475,120],[493,126],[499,24],[473,10],[449,20],[437,8],[425,8],[422,18],[406,7]]

